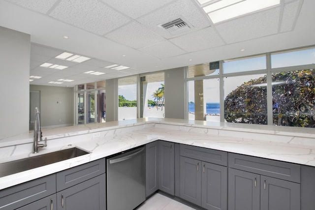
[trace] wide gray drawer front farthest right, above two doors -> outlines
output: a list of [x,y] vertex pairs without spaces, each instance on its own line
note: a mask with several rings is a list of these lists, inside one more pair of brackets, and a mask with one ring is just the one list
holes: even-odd
[[248,155],[228,153],[228,166],[268,177],[300,183],[300,165]]

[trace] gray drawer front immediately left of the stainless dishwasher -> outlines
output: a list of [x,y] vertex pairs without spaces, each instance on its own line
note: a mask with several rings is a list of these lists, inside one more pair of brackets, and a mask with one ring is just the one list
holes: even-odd
[[105,158],[57,173],[57,192],[105,173]]

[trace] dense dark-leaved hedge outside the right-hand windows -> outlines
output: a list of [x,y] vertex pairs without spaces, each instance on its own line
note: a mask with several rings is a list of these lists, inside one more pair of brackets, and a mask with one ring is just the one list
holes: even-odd
[[[273,124],[315,127],[315,70],[272,75]],[[267,124],[266,76],[230,92],[224,100],[228,122]]]

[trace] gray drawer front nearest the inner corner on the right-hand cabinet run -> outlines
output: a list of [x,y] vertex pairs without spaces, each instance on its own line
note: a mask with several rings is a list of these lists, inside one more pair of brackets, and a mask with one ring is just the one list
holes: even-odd
[[207,148],[181,144],[180,154],[181,156],[202,160],[208,163],[227,166],[227,152],[225,151],[211,150]]

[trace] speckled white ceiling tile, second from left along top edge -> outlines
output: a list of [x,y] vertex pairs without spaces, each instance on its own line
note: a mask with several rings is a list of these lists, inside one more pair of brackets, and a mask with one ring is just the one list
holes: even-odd
[[61,0],[50,16],[99,35],[130,21],[98,0]]

